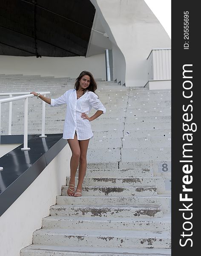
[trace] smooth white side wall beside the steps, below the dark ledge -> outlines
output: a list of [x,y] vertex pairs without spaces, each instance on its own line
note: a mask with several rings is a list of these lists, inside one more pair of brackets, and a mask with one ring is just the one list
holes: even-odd
[[32,244],[33,231],[41,228],[41,219],[49,216],[49,207],[70,176],[70,157],[67,144],[0,217],[0,255],[20,256],[20,250]]

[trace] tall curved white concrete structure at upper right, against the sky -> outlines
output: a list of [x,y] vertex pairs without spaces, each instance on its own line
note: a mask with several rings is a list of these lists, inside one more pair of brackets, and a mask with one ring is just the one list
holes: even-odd
[[102,13],[102,25],[109,39],[114,44],[116,42],[123,53],[126,61],[126,86],[144,86],[148,81],[146,58],[150,51],[153,48],[171,47],[167,32],[144,0],[91,2]]

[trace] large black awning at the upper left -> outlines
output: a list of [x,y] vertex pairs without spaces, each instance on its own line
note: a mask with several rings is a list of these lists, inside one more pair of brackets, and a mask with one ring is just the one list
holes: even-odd
[[85,56],[94,15],[90,0],[1,0],[0,55]]

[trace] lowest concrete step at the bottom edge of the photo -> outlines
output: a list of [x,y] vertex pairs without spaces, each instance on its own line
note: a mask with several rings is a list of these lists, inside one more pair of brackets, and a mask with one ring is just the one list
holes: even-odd
[[171,256],[171,249],[84,247],[32,244],[20,256]]

